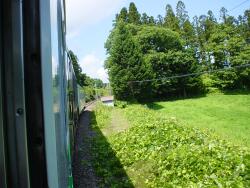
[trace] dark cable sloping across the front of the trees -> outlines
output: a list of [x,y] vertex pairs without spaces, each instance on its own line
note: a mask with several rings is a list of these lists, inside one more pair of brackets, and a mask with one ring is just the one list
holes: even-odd
[[133,80],[133,81],[129,81],[128,83],[143,83],[143,82],[153,82],[153,81],[164,81],[164,80],[170,80],[170,79],[174,79],[174,78],[184,78],[184,77],[189,77],[189,76],[200,76],[202,74],[210,74],[210,73],[213,73],[213,72],[228,71],[228,70],[232,70],[232,69],[246,68],[246,67],[250,67],[250,64],[238,65],[238,66],[234,66],[234,67],[229,67],[227,69],[225,69],[225,68],[215,69],[215,70],[202,71],[202,72],[189,73],[189,74],[182,74],[182,75],[176,75],[176,76],[170,76],[170,77],[158,78],[158,79]]

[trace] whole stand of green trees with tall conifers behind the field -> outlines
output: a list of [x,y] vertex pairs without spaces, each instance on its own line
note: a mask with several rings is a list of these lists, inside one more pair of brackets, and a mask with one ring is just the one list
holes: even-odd
[[[105,43],[105,68],[120,100],[186,97],[210,88],[247,89],[250,69],[232,68],[249,63],[249,43],[250,9],[235,18],[223,7],[219,19],[209,10],[191,20],[179,1],[175,11],[168,4],[165,16],[155,18],[140,14],[132,2],[116,15]],[[163,79],[217,69],[225,71]]]

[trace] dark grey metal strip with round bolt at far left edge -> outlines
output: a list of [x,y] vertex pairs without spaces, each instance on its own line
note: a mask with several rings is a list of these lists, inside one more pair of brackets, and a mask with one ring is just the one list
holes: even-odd
[[29,188],[22,2],[0,4],[0,186]]

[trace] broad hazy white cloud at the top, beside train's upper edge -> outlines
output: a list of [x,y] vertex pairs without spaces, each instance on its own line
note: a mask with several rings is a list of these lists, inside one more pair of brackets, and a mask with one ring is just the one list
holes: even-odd
[[69,33],[114,14],[123,0],[66,0]]

